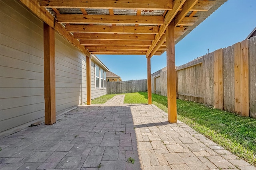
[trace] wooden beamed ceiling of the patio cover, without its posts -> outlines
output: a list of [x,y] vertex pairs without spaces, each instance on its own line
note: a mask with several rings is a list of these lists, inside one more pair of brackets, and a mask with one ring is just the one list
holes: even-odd
[[170,21],[178,42],[225,1],[38,0],[91,54],[146,57],[166,51]]

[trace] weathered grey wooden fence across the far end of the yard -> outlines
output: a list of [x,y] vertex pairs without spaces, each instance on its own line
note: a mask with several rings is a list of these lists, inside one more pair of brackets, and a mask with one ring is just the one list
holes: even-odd
[[107,94],[146,92],[146,79],[122,82],[107,82]]

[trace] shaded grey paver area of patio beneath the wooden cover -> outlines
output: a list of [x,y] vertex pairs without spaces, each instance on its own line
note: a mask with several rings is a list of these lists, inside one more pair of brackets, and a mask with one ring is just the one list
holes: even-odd
[[134,129],[130,106],[79,106],[2,138],[0,168],[140,169]]

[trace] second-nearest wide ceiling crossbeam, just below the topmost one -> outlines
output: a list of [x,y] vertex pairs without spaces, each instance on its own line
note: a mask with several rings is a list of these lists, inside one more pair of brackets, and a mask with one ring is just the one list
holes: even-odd
[[163,16],[121,16],[121,15],[82,15],[56,14],[58,23],[76,24],[150,24],[162,25]]

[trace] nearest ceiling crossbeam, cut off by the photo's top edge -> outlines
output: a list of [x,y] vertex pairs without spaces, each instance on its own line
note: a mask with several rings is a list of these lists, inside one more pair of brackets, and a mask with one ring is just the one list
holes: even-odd
[[39,0],[45,8],[172,10],[172,0]]

